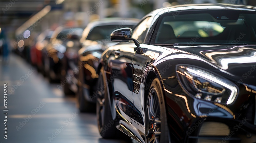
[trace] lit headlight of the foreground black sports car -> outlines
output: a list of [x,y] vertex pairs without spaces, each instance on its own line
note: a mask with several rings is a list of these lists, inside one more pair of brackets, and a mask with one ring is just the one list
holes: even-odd
[[207,101],[231,104],[236,99],[237,86],[220,76],[192,66],[176,67],[180,86],[187,94]]

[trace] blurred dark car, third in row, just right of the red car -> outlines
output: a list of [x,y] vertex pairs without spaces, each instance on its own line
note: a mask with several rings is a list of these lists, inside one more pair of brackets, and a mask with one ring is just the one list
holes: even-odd
[[46,46],[44,55],[44,71],[50,82],[61,79],[62,59],[68,48],[79,47],[79,40],[84,28],[58,27]]

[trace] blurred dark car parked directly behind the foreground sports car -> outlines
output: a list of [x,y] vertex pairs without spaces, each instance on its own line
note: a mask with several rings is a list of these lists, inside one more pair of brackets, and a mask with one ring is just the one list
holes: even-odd
[[[98,79],[99,59],[107,47],[117,43],[111,42],[111,32],[122,27],[133,28],[137,23],[138,19],[106,18],[91,22],[84,29],[80,40],[84,46],[78,51],[79,72],[74,70],[77,67],[72,66],[75,64],[71,63],[66,75],[66,77],[73,77],[73,80],[69,80],[70,82],[66,85],[69,85],[69,89],[78,90],[78,106],[81,112],[95,110],[97,98],[94,87]],[[76,90],[73,91],[76,92]]]

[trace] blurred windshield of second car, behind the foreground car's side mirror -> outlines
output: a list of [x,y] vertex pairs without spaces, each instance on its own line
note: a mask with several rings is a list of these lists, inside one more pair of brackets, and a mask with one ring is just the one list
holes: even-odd
[[[121,25],[122,27],[133,28],[134,25]],[[121,28],[122,28],[121,27]],[[106,25],[94,27],[87,36],[87,40],[98,41],[103,39],[110,39],[110,34],[119,29],[120,25]]]

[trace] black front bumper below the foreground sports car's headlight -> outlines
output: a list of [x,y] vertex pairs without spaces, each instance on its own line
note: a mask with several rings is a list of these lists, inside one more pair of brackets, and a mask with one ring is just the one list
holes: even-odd
[[188,96],[178,84],[171,86],[165,84],[164,94],[171,136],[178,142],[256,142],[255,93],[240,88],[234,104],[224,105]]

